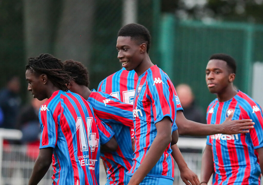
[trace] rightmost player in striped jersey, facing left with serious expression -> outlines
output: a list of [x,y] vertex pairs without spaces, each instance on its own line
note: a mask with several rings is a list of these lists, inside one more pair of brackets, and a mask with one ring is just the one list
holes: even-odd
[[206,84],[216,94],[207,109],[208,124],[221,124],[231,112],[232,119],[252,119],[249,133],[207,136],[202,157],[201,185],[213,173],[213,184],[260,184],[263,172],[262,109],[251,97],[233,86],[235,60],[226,54],[214,54],[206,66]]

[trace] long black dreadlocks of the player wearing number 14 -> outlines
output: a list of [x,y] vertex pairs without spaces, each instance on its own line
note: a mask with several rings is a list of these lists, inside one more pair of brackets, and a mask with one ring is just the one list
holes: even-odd
[[67,85],[73,78],[64,70],[63,63],[50,54],[40,54],[37,57],[28,58],[26,69],[35,74],[45,74],[48,79],[60,90],[67,91]]

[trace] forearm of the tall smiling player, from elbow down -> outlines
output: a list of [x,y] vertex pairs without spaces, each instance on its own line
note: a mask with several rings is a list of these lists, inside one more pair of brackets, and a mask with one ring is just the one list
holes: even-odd
[[170,144],[171,140],[171,135],[158,135],[157,133],[144,160],[141,162],[141,165],[131,177],[128,185],[137,185],[144,179],[144,177],[156,165],[165,149]]

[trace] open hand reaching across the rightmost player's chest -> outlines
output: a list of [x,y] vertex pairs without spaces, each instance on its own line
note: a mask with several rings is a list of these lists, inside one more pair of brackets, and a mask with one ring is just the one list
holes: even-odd
[[248,133],[249,129],[253,129],[255,125],[251,119],[246,120],[232,120],[234,112],[226,118],[226,120],[221,124],[223,127],[222,134],[232,135],[238,133]]

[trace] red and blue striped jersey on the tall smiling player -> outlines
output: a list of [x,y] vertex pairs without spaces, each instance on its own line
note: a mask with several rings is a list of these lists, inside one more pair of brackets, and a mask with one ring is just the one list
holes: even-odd
[[[177,129],[175,117],[179,104],[174,85],[167,74],[156,65],[139,76],[133,105],[135,152],[133,166],[127,175],[132,176],[144,160],[157,135],[157,122],[168,116],[172,122],[172,131]],[[169,144],[147,176],[174,179],[171,151]]]

